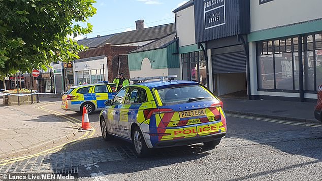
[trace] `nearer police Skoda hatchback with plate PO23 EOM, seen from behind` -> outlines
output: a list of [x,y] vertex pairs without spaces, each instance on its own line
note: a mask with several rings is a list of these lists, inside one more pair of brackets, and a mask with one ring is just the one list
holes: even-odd
[[133,142],[138,157],[150,149],[203,142],[215,147],[226,135],[222,102],[191,81],[154,81],[123,87],[100,114],[103,139]]

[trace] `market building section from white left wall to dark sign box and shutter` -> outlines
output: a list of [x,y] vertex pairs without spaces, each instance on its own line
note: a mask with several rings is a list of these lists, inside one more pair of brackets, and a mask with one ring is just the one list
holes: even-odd
[[246,97],[249,1],[189,1],[174,13],[183,79]]

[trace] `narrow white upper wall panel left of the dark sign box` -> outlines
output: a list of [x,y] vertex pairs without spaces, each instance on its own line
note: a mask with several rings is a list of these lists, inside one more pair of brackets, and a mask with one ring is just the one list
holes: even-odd
[[195,11],[194,6],[190,6],[175,14],[177,23],[177,36],[179,47],[196,43],[195,39]]

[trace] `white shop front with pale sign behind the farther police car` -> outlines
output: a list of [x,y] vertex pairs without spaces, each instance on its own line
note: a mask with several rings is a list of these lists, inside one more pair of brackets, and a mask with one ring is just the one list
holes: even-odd
[[106,56],[83,58],[74,61],[75,85],[94,84],[107,81]]

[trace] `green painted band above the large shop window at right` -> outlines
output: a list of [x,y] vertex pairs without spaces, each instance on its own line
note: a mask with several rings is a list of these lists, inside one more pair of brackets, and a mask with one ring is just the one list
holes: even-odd
[[277,28],[254,31],[248,34],[248,42],[288,37],[297,34],[322,31],[322,19]]

